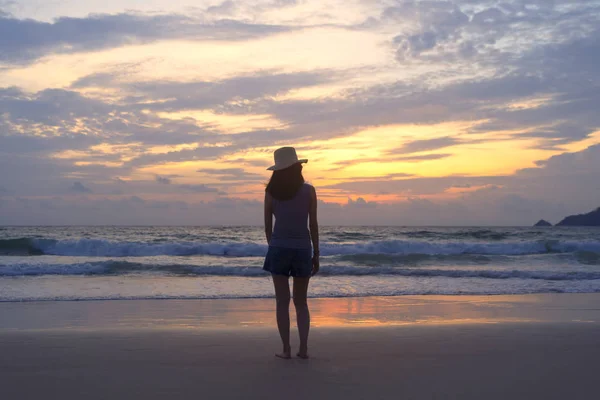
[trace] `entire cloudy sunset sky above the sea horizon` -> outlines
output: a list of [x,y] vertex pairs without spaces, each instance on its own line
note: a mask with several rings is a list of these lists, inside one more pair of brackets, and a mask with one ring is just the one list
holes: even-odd
[[600,1],[0,0],[1,225],[327,225],[600,206]]

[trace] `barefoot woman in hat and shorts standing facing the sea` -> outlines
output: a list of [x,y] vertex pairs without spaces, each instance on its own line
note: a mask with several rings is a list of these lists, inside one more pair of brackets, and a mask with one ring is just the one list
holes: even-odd
[[277,149],[274,158],[275,165],[268,168],[273,171],[273,175],[265,189],[265,235],[269,250],[263,269],[271,273],[275,286],[277,328],[283,342],[283,352],[276,356],[291,358],[288,280],[292,276],[294,306],[300,334],[297,356],[308,358],[310,314],[306,293],[310,277],[319,272],[317,194],[315,188],[304,183],[302,177],[302,164],[308,160],[298,160],[293,147]]

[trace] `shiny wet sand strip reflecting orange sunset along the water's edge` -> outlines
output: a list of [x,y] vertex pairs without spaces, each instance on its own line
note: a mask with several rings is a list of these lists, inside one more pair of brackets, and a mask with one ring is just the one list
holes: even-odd
[[[598,323],[599,294],[311,299],[314,328]],[[0,303],[0,331],[275,327],[273,299]],[[294,307],[291,306],[292,321]]]

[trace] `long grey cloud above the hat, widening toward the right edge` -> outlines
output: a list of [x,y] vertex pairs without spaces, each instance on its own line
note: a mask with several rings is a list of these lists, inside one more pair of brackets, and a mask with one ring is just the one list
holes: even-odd
[[[254,109],[323,138],[371,126],[485,121],[471,132],[521,130],[521,137],[539,138],[543,147],[556,149],[600,127],[600,114],[595,112],[600,102],[600,60],[595,63],[600,47],[594,51],[599,43],[600,31],[591,31],[583,39],[522,50],[488,76],[462,77],[457,71],[456,79],[446,84],[429,86],[425,81],[419,87],[398,82],[385,90],[381,86],[357,90],[345,98],[263,100]],[[579,59],[582,69],[577,67]],[[536,98],[543,101],[511,107]]]

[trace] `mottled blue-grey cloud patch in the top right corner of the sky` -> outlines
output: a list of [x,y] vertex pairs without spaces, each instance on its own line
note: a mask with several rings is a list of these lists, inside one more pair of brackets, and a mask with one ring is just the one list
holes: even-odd
[[[495,3],[495,2],[494,2]],[[571,6],[571,7],[569,7]],[[395,36],[399,61],[510,62],[515,54],[551,38],[571,39],[597,25],[596,1],[491,2],[403,1],[386,8],[382,23],[400,24]],[[407,21],[413,21],[407,24]],[[511,46],[506,46],[511,43]]]

